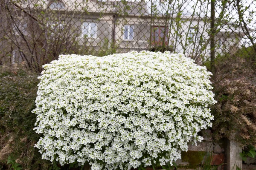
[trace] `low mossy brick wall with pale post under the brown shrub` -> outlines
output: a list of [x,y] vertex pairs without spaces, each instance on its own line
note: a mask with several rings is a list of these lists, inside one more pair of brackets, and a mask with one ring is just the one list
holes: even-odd
[[[227,139],[213,141],[211,130],[201,133],[204,141],[197,146],[189,145],[189,150],[182,152],[182,159],[176,161],[175,170],[256,170],[256,159],[248,157],[246,161],[241,160],[239,153],[242,149],[237,142]],[[153,168],[148,167],[146,170]]]

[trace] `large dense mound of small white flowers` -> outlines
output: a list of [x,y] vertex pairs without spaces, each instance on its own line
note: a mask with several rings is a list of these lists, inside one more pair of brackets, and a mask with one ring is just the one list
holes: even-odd
[[35,147],[92,170],[172,164],[212,125],[210,75],[169,52],[61,55],[39,77]]

